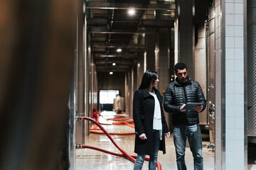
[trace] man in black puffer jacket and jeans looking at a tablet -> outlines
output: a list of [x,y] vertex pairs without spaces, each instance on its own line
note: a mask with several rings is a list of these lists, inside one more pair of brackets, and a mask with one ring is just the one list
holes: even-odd
[[[174,72],[176,80],[169,84],[164,95],[164,110],[172,114],[174,145],[178,169],[186,169],[186,137],[194,158],[194,169],[203,169],[202,136],[199,127],[198,113],[206,108],[206,99],[201,86],[191,80],[187,74],[186,64],[178,62]],[[203,103],[192,110],[183,109],[186,103]]]

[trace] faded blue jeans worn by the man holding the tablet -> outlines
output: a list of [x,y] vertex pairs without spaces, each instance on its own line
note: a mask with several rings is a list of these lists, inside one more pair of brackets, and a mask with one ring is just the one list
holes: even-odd
[[188,137],[189,146],[193,154],[194,169],[202,170],[202,135],[199,124],[173,125],[173,131],[178,170],[186,170],[186,164],[184,159],[186,149],[186,137]]

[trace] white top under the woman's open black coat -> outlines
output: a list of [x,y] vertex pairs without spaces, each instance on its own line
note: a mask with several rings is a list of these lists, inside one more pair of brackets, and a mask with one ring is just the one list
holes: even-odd
[[153,120],[153,129],[154,130],[162,130],[162,124],[161,124],[161,108],[159,100],[156,96],[156,93],[153,91],[153,93],[149,93],[152,96],[154,96],[155,101],[155,108],[154,108],[154,120]]

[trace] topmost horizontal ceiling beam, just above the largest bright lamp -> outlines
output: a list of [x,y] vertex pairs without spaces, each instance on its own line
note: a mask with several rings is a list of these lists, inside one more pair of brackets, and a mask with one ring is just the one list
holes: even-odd
[[175,10],[175,4],[139,4],[139,3],[110,3],[110,2],[85,2],[85,8],[98,9],[127,9],[139,10]]

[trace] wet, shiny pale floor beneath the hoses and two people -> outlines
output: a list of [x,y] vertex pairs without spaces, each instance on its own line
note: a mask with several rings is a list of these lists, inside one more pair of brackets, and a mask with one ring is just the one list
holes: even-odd
[[[104,115],[104,114],[103,114]],[[100,118],[100,122],[107,123],[105,119],[111,118],[113,116],[105,113],[104,118]],[[134,129],[127,125],[102,125],[107,132],[134,132]],[[134,153],[134,135],[111,135],[114,142],[117,143],[119,147],[124,149],[130,155],[136,155]],[[209,142],[203,141],[203,159],[204,159],[204,169],[212,170],[214,169],[214,152],[212,149],[207,148],[206,145]],[[90,145],[93,147],[99,147],[106,149],[110,152],[116,152],[121,154],[119,150],[112,144],[106,135],[99,135],[95,133],[90,133],[89,136],[85,137],[85,145]],[[254,154],[255,155],[255,152]],[[187,169],[193,169],[193,156],[189,147],[186,147],[186,166]],[[248,156],[249,159],[249,156]],[[254,158],[252,158],[254,159]],[[251,160],[251,159],[250,159]],[[166,154],[159,152],[158,161],[161,164],[163,170],[166,169],[177,169],[176,168],[176,154],[174,149],[173,135],[166,138]],[[248,164],[248,169],[256,169],[256,163],[251,161]],[[107,170],[107,169],[133,169],[134,163],[128,159],[113,156],[111,154],[106,154],[104,152],[99,152],[93,149],[76,149],[75,157],[75,170]],[[144,162],[142,169],[148,169],[148,162]]]

